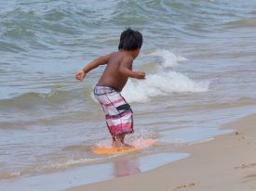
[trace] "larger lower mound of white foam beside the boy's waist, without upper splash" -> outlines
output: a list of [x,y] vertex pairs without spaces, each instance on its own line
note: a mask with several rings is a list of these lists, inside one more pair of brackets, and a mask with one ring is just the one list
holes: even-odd
[[128,102],[147,102],[153,96],[167,96],[170,93],[207,92],[209,83],[195,83],[187,76],[176,71],[149,74],[140,82],[128,81],[123,95]]

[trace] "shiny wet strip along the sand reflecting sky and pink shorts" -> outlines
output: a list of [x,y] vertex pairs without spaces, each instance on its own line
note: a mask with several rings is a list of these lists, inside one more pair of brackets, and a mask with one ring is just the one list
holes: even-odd
[[20,187],[25,187],[27,191],[63,190],[77,185],[97,183],[111,178],[147,172],[168,162],[184,159],[188,156],[186,153],[161,153],[144,156],[141,159],[117,159],[114,162],[94,164],[64,172],[21,177],[16,184],[10,184],[10,180],[4,180],[1,188],[12,191],[18,191]]

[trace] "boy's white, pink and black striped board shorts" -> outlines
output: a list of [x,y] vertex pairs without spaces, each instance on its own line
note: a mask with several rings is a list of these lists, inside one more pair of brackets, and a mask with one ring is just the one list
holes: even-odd
[[110,86],[96,85],[94,96],[103,108],[110,134],[115,136],[133,133],[133,112],[118,90]]

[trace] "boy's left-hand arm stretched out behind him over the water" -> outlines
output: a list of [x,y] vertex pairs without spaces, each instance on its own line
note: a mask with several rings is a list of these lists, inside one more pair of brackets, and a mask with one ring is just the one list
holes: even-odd
[[84,69],[79,70],[75,73],[76,80],[83,81],[84,78],[86,77],[86,74],[90,70],[96,69],[100,65],[104,65],[104,64],[108,63],[110,57],[111,57],[111,55],[106,55],[106,56],[99,57],[99,58],[93,60],[92,62],[90,62]]

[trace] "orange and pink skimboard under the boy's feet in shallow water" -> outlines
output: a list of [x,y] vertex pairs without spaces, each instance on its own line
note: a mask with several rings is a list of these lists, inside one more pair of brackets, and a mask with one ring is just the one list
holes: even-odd
[[133,144],[133,147],[130,148],[115,148],[115,147],[92,147],[91,150],[93,153],[98,155],[107,155],[107,154],[119,154],[119,153],[128,153],[141,150],[145,147],[152,146],[156,142],[156,139],[141,139],[137,143]]

